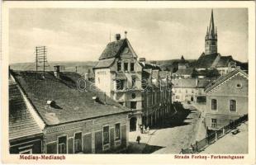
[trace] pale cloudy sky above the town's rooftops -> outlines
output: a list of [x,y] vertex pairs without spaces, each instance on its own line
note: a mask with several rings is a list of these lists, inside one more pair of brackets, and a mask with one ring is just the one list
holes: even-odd
[[[248,11],[214,8],[218,52],[248,61]],[[34,62],[35,47],[47,47],[48,61],[97,61],[120,33],[146,60],[198,59],[204,51],[211,8],[67,9],[12,8],[10,63]]]

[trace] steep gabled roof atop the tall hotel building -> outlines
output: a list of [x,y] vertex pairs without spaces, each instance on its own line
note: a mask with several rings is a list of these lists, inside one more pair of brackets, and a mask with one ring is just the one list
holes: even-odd
[[116,41],[108,43],[105,50],[103,50],[99,60],[117,58],[121,54],[121,51],[126,46],[129,47],[129,49],[130,49],[131,53],[134,55],[134,57],[137,57],[137,55],[135,54],[135,51],[133,50],[133,48],[130,45],[129,40],[121,39],[121,40],[116,40]]

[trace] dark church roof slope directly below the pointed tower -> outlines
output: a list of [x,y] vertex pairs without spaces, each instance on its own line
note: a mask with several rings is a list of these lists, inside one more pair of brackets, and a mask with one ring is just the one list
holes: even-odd
[[196,68],[211,68],[211,65],[215,61],[219,54],[201,54],[197,59]]

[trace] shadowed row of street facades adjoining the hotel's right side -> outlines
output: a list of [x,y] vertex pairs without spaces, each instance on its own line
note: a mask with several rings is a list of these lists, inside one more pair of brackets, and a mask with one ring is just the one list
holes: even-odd
[[171,73],[161,71],[155,64],[145,64],[145,58],[140,59],[142,67],[142,123],[150,128],[159,126],[165,117],[173,114]]

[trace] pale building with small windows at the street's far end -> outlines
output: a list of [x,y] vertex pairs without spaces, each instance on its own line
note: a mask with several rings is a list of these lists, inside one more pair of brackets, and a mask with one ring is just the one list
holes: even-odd
[[204,88],[209,82],[208,78],[173,79],[173,101],[205,102]]

